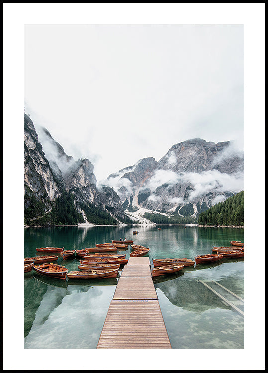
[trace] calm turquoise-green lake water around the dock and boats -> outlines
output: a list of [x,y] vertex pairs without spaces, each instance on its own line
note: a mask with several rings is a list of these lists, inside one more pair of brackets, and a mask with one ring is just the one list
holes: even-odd
[[[94,247],[112,239],[133,239],[150,248],[152,258],[190,258],[211,253],[212,246],[244,242],[242,228],[195,226],[54,227],[24,229],[24,257],[37,247]],[[128,250],[118,250],[129,257]],[[77,270],[78,259],[56,263]],[[123,266],[120,267],[120,272]],[[24,348],[96,348],[118,279],[49,279],[35,271],[24,274]],[[201,282],[202,281],[202,282]],[[224,259],[184,267],[177,274],[153,279],[172,348],[244,348],[244,259]],[[210,288],[214,289],[215,294]],[[220,286],[222,285],[222,286]],[[234,297],[229,291],[236,294]]]

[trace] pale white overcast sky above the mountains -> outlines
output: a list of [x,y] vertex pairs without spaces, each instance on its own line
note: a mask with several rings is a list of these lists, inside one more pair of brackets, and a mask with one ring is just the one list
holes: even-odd
[[244,146],[243,25],[25,25],[24,104],[97,180],[181,141]]

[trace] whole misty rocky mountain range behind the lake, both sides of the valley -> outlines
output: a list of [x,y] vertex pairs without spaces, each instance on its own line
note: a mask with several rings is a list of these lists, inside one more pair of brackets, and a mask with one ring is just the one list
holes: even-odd
[[202,211],[244,189],[244,154],[232,141],[183,141],[158,162],[142,158],[97,186],[88,159],[67,155],[47,129],[38,134],[24,114],[27,225],[150,223],[148,213],[196,221]]

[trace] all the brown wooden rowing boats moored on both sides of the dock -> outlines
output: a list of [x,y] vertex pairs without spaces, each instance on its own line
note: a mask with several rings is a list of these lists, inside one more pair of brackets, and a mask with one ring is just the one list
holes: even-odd
[[[185,266],[194,266],[195,263],[209,263],[221,260],[223,258],[242,258],[244,257],[244,244],[240,241],[231,241],[231,243],[238,243],[239,245],[234,246],[213,246],[212,254],[203,254],[195,256],[195,261],[187,258],[164,258],[164,259],[154,259],[152,262],[154,267],[151,269],[152,277],[160,276],[164,274],[174,273],[182,270]],[[106,243],[100,245],[107,245]],[[97,245],[96,245],[97,247]],[[149,252],[149,248],[141,245],[131,244],[131,248],[134,252],[130,253],[130,256],[143,256]],[[91,279],[91,278],[111,278],[117,277],[119,275],[119,267],[121,264],[126,264],[128,259],[126,259],[125,254],[106,254],[106,253],[94,253],[90,254],[89,249],[95,248],[85,248],[82,250],[63,250],[64,248],[40,248],[37,251],[46,251],[60,253],[64,255],[73,256],[77,255],[81,257],[80,265],[78,266],[79,271],[70,271],[64,266],[51,263],[58,259],[56,255],[47,256],[36,256],[24,258],[24,272],[29,272],[32,269],[41,275],[66,279]],[[55,251],[62,250],[62,251]],[[50,263],[46,263],[50,261]]]

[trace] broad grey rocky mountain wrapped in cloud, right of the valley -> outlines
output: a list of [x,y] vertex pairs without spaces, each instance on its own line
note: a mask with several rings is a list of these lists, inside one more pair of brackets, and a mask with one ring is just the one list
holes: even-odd
[[114,188],[126,213],[137,219],[146,212],[196,219],[244,189],[243,180],[244,155],[233,142],[195,138],[173,145],[158,162],[143,158],[103,184]]

